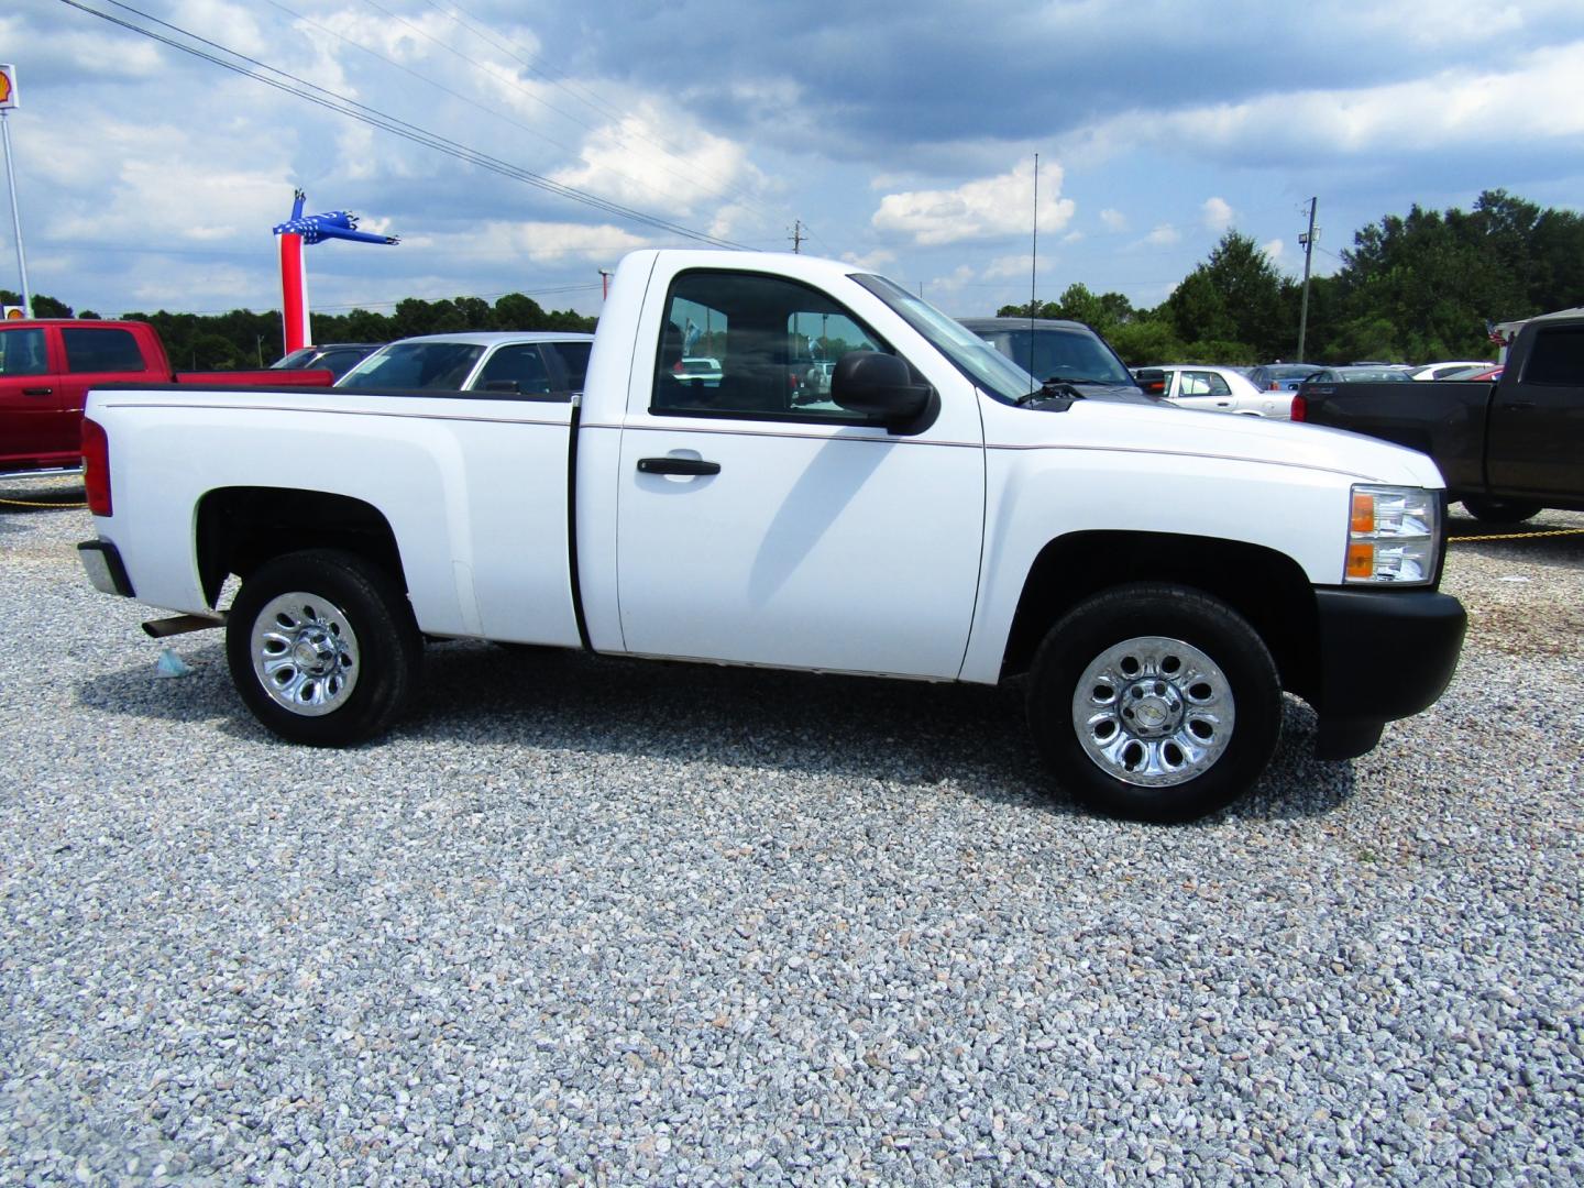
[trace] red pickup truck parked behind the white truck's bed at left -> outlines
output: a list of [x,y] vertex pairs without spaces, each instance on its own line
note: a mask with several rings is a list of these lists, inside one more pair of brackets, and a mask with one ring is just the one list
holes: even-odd
[[195,371],[177,375],[147,322],[46,318],[0,323],[0,478],[82,466],[82,404],[112,383],[328,388],[328,371]]

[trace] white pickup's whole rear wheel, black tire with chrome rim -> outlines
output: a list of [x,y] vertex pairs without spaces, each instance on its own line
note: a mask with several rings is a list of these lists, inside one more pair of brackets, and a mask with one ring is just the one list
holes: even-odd
[[265,562],[242,583],[225,654],[238,694],[266,727],[293,743],[350,746],[401,714],[423,637],[385,570],[355,553],[307,550]]

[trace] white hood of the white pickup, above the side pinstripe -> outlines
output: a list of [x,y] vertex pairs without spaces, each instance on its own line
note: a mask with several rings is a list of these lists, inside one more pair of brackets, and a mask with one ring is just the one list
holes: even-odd
[[1446,485],[1426,455],[1356,432],[1114,401],[1074,401],[1060,412],[987,401],[985,444],[1221,458],[1296,466],[1369,483]]

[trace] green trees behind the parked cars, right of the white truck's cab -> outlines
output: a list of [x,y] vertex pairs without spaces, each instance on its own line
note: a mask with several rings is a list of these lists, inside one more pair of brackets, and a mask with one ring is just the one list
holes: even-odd
[[[1297,360],[1302,284],[1228,231],[1153,309],[1074,284],[1003,317],[1085,322],[1129,366]],[[1305,363],[1495,358],[1487,323],[1584,304],[1584,217],[1486,190],[1472,211],[1386,215],[1353,236],[1332,276],[1312,277]]]

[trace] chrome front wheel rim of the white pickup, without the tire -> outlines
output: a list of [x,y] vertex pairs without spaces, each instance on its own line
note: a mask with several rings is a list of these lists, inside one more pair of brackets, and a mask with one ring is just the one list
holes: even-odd
[[1139,635],[1096,656],[1072,692],[1072,725],[1095,765],[1137,787],[1209,771],[1232,741],[1232,686],[1182,640]]

